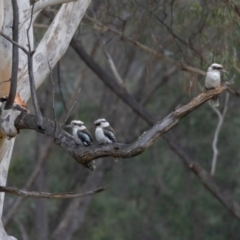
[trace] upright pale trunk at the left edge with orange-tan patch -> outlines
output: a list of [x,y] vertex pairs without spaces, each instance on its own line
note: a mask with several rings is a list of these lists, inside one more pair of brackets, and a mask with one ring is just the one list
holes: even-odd
[[[4,9],[1,7],[4,5]],[[29,1],[28,0],[21,0],[18,1],[19,7],[19,18],[23,17],[23,11],[28,7],[29,8]],[[13,14],[12,14],[12,5],[11,1],[5,0],[1,1],[0,11],[4,11],[0,13],[3,17],[1,31],[5,33],[7,36],[12,37],[12,21],[13,21]],[[27,22],[26,22],[27,23]],[[32,32],[32,30],[31,30]],[[33,42],[33,35],[30,35],[30,41]],[[19,43],[26,44],[26,27],[20,29],[19,31]],[[10,79],[11,68],[12,68],[12,44],[3,37],[0,37],[0,84],[3,81]],[[19,51],[19,73],[23,66],[27,64],[26,55]],[[0,96],[7,96],[9,94],[10,83],[2,83],[0,85]],[[12,150],[15,142],[15,138],[9,138],[8,136],[15,136],[17,131],[14,127],[14,118],[17,117],[19,114],[18,111],[7,110],[3,111],[1,115],[1,122],[0,122],[0,185],[5,186],[7,181],[8,169],[9,164],[11,161]],[[9,120],[9,121],[8,121]],[[8,136],[7,136],[8,135]],[[0,217],[2,217],[3,212],[3,203],[4,203],[4,193],[0,194]],[[9,240],[15,239],[10,237],[6,234],[2,221],[0,222],[0,239],[1,240]]]

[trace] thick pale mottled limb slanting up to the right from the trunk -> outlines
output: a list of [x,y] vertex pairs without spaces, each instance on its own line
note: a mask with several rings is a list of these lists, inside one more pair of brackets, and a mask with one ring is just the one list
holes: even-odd
[[[33,56],[33,72],[36,88],[38,88],[49,74],[49,65],[53,68],[66,52],[91,0],[79,0],[63,4],[54,21],[49,26],[43,39],[40,41]],[[49,65],[48,65],[49,64]],[[20,77],[18,92],[24,101],[30,98],[28,85],[27,66]]]

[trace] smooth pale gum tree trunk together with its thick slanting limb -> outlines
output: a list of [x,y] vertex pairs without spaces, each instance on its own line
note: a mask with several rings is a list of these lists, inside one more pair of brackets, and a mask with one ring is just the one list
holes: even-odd
[[[44,1],[41,2],[43,3]],[[48,2],[59,3],[60,1]],[[67,50],[70,40],[90,2],[90,0],[78,0],[61,6],[33,56],[33,72],[37,88],[43,83],[50,72],[48,64],[53,68]],[[24,18],[26,17],[27,11],[30,9],[29,0],[18,0],[18,7],[19,22],[22,23],[19,31],[19,44],[27,48],[26,29],[29,26],[30,20],[27,19],[26,21]],[[1,31],[9,37],[12,36],[12,15],[11,1],[4,0],[3,2],[3,0],[0,0],[0,27]],[[32,45],[32,26],[30,29],[30,42]],[[34,49],[33,46],[32,49]],[[10,79],[12,67],[12,44],[2,36],[0,36],[0,62],[0,97],[2,97],[9,94],[9,82],[2,82]],[[18,74],[17,92],[20,94],[21,98],[27,102],[31,96],[27,69],[27,56],[22,50],[19,50]],[[14,119],[16,119],[17,115],[18,111],[8,110],[4,111],[0,117],[0,185],[2,186],[6,185],[9,163],[15,141],[15,138],[9,139],[8,136],[15,136],[17,134],[14,127]],[[1,193],[0,216],[2,215],[3,202],[4,193]],[[14,239],[7,236],[2,226],[2,221],[0,221],[0,239]]]

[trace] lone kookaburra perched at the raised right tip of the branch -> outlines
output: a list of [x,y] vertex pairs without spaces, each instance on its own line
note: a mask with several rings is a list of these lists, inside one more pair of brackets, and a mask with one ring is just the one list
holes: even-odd
[[[221,73],[226,73],[223,66],[218,63],[213,63],[207,71],[206,79],[205,79],[205,88],[212,89],[221,85]],[[210,100],[213,107],[219,106],[219,96],[215,96]]]

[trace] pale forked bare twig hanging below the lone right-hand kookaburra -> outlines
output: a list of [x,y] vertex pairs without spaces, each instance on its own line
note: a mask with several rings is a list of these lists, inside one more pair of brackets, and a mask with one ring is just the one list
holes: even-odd
[[218,121],[218,125],[217,128],[215,130],[214,133],[214,138],[213,138],[213,142],[212,142],[212,149],[213,149],[213,158],[212,158],[212,167],[211,167],[211,175],[213,176],[215,174],[216,171],[216,165],[217,165],[217,157],[218,157],[218,148],[217,148],[217,143],[218,143],[218,136],[219,136],[219,132],[221,130],[224,118],[226,116],[227,113],[227,109],[228,109],[228,100],[229,100],[229,93],[226,92],[226,98],[225,98],[225,104],[224,104],[224,109],[223,112],[221,113],[218,109],[212,107],[212,109],[215,111],[215,113],[218,115],[219,121]]

